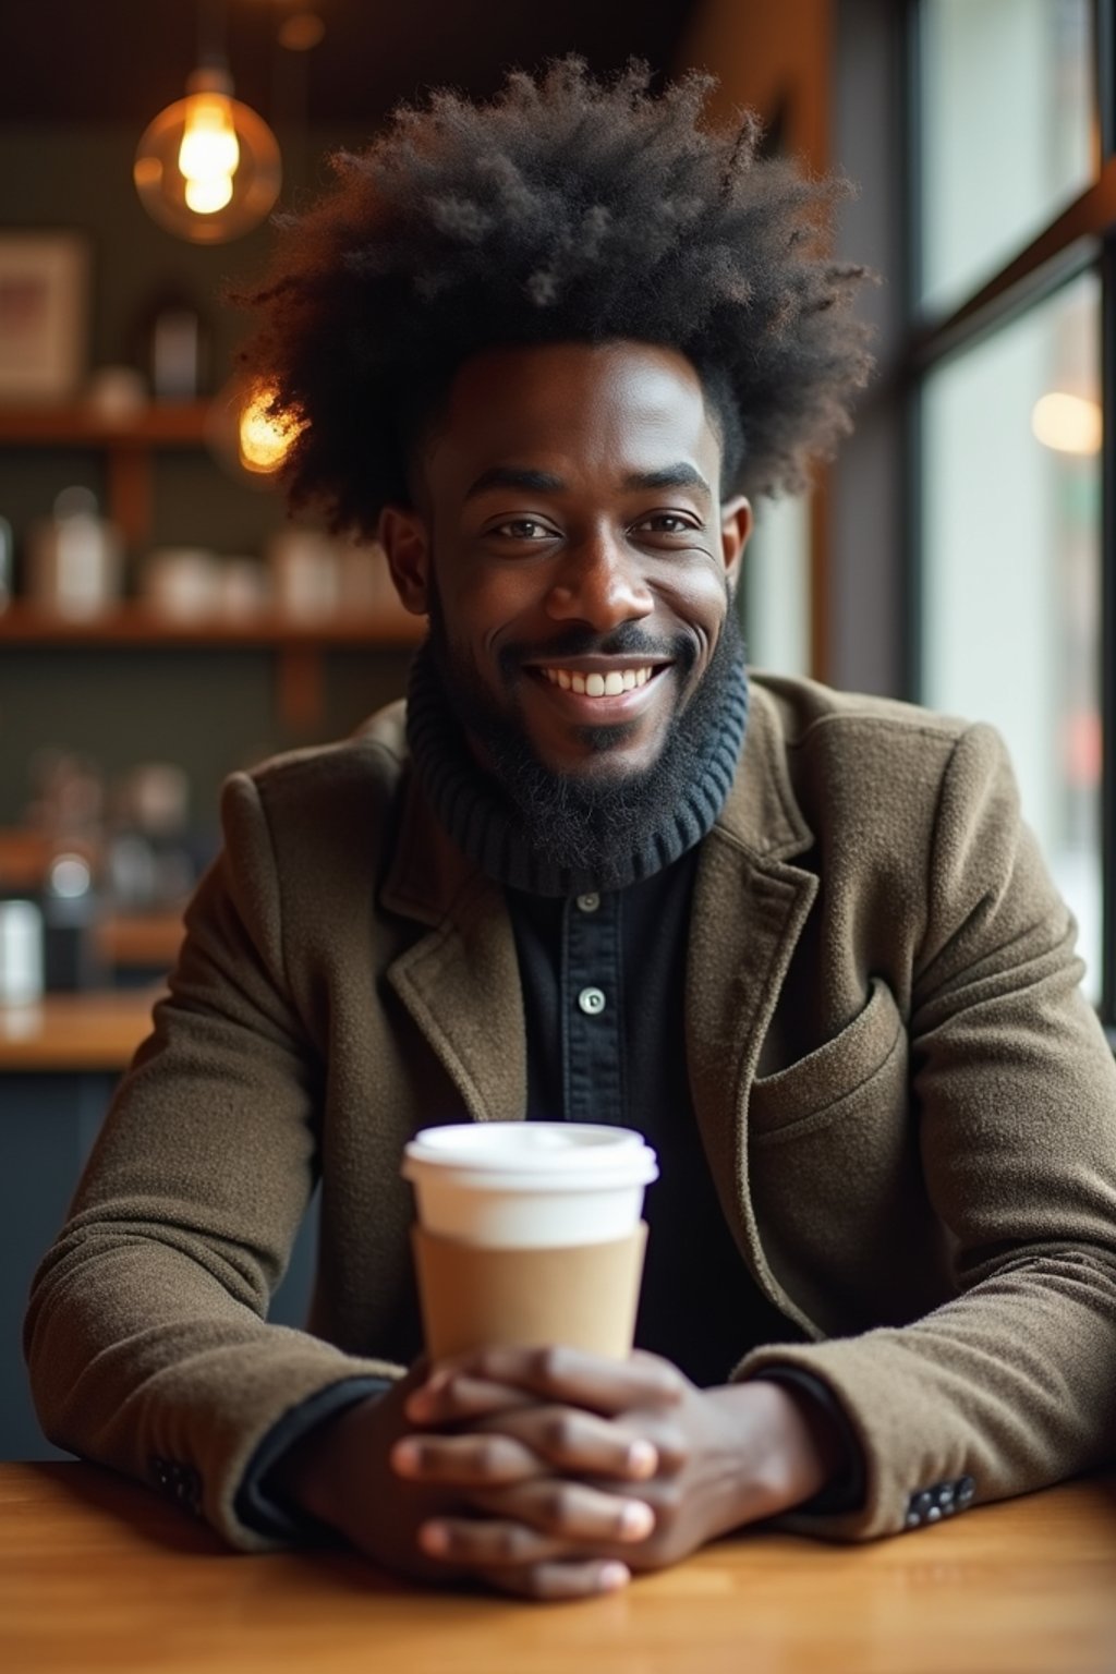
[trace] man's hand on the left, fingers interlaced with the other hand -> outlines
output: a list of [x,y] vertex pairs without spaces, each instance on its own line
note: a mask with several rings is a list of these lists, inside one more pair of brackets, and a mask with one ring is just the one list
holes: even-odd
[[[624,1550],[651,1527],[646,1507],[622,1495],[624,1480],[656,1468],[656,1456],[622,1426],[591,1415],[579,1420],[581,1456],[609,1478],[602,1492],[589,1483],[547,1483],[542,1455],[510,1435],[477,1431],[460,1436],[412,1436],[407,1403],[425,1383],[420,1363],[387,1394],[358,1401],[301,1438],[269,1476],[269,1487],[318,1522],[343,1533],[358,1550],[400,1575],[427,1582],[460,1577],[485,1580],[505,1592],[534,1597],[584,1597],[611,1592],[627,1569],[597,1557],[591,1543]],[[626,1383],[632,1401],[653,1401],[658,1366],[634,1371]],[[534,1408],[520,1389],[504,1389],[500,1408]],[[453,1465],[430,1480],[407,1468],[413,1445],[452,1441]],[[398,1463],[403,1470],[398,1470]],[[545,1503],[561,1498],[561,1537],[539,1528]],[[445,1522],[468,1522],[485,1535],[477,1550],[448,1557],[437,1535]],[[495,1553],[495,1555],[494,1555]],[[561,1560],[561,1562],[559,1562]]]

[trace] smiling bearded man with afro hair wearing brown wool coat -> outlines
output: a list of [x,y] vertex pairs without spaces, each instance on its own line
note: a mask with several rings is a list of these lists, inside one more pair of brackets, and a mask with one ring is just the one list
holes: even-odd
[[[701,95],[405,110],[253,300],[294,502],[430,634],[405,713],[229,783],[27,1327],[47,1431],[243,1547],[569,1597],[1111,1445],[1116,1071],[1002,748],[745,680],[745,487],[867,360],[830,191]],[[641,1353],[423,1368],[402,1148],[524,1117],[659,1152]],[[263,1314],[316,1180],[303,1334]]]

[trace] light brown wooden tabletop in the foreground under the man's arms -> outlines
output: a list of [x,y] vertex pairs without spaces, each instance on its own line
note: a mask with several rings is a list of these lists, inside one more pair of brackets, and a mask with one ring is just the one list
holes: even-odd
[[760,1533],[626,1592],[435,1594],[341,1553],[229,1555],[90,1465],[0,1465],[12,1674],[1113,1674],[1116,1476],[867,1547]]

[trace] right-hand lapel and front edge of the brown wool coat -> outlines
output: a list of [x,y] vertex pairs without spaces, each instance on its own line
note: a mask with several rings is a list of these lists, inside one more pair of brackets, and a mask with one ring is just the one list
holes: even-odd
[[818,892],[788,857],[811,834],[786,777],[771,700],[751,688],[740,772],[698,865],[686,964],[686,1050],[698,1127],[724,1217],[756,1284],[808,1336],[775,1279],[748,1189],[748,1100],[760,1048]]

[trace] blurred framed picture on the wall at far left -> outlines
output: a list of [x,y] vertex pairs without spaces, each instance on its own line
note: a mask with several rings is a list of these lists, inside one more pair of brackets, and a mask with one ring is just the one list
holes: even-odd
[[0,231],[0,402],[65,402],[85,375],[89,244]]

